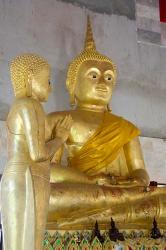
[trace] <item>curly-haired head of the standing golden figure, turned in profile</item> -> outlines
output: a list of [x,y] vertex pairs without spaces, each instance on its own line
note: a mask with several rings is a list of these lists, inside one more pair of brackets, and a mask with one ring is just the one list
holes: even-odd
[[50,66],[36,54],[22,54],[10,64],[10,74],[16,98],[32,97],[47,101],[51,91]]

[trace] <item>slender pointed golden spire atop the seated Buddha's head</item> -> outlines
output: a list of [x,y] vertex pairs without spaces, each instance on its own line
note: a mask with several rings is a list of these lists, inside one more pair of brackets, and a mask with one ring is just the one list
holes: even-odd
[[87,16],[87,30],[86,30],[86,38],[85,38],[85,50],[88,50],[88,49],[96,49],[89,16]]

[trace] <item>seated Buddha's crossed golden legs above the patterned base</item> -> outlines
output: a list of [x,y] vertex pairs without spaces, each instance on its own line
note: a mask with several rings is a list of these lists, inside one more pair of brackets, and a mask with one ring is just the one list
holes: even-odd
[[126,227],[146,228],[154,217],[166,223],[166,189],[116,188],[93,184],[51,184],[48,228],[90,229],[97,220],[105,228],[110,218]]

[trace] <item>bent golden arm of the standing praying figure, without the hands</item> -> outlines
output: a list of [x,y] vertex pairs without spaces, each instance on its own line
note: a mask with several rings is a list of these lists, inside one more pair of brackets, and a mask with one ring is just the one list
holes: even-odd
[[33,101],[27,101],[23,103],[20,114],[31,159],[38,162],[52,157],[62,141],[55,138],[45,144],[45,117],[44,114],[41,117],[39,107]]

